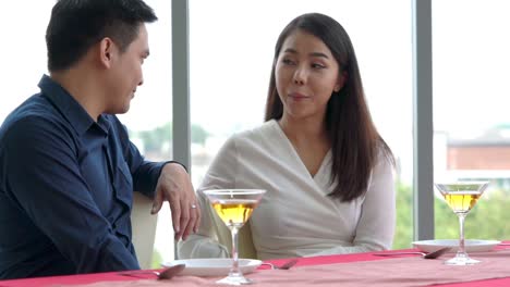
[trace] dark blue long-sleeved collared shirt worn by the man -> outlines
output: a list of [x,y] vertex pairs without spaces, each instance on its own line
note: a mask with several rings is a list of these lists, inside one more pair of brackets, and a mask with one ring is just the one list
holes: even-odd
[[114,115],[94,121],[50,77],[0,127],[0,278],[138,269],[133,190],[154,196],[147,162]]

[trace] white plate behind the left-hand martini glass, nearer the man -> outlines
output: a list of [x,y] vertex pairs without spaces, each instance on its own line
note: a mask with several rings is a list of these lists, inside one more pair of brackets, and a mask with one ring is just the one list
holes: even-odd
[[[182,259],[162,263],[169,267],[177,264],[185,264],[184,271],[179,273],[182,276],[227,276],[229,275],[232,259],[229,258],[207,258],[207,259]],[[243,274],[254,272],[260,266],[262,261],[255,259],[240,259],[239,267]]]

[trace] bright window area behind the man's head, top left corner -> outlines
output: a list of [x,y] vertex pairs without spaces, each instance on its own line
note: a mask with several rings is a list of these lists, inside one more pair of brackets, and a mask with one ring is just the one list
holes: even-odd
[[[0,53],[3,55],[1,78],[2,104],[0,122],[32,95],[39,91],[37,84],[46,66],[46,26],[50,18],[54,1],[32,1],[26,9],[24,1],[3,3],[0,25],[3,29],[3,41]],[[23,13],[19,13],[23,11]],[[21,24],[25,23],[25,24]],[[28,23],[29,25],[27,25]],[[13,27],[15,28],[8,28]]]

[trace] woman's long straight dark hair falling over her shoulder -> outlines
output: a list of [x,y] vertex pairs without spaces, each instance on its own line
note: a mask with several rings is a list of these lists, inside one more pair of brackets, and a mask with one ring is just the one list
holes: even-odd
[[331,180],[337,183],[329,196],[352,201],[366,191],[379,152],[382,150],[393,164],[394,159],[372,121],[354,48],[337,21],[324,14],[309,13],[294,18],[282,30],[275,48],[265,120],[279,120],[283,114],[283,104],[276,87],[275,66],[284,40],[298,29],[321,39],[337,60],[339,74],[347,75],[342,89],[331,95],[325,121],[331,140]]

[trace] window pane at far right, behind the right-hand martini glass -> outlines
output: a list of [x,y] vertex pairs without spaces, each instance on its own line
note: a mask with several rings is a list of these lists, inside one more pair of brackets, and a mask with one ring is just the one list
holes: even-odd
[[[510,236],[510,39],[505,0],[433,1],[435,177],[490,180],[465,221],[465,238]],[[459,224],[435,200],[437,238]]]

